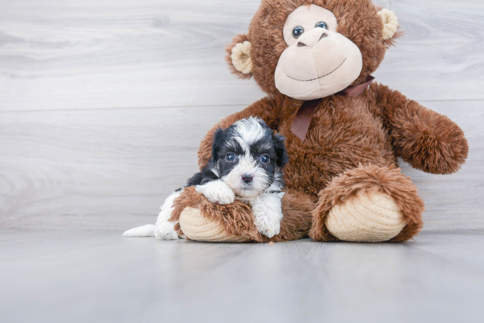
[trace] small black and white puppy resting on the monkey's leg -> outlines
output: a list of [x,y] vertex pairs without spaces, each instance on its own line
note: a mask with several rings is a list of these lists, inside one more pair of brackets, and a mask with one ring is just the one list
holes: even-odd
[[[259,232],[271,238],[281,229],[282,167],[287,161],[284,137],[274,134],[262,119],[249,117],[214,133],[211,160],[184,187],[195,185],[198,192],[214,203],[242,200],[252,208]],[[133,228],[123,236],[177,239],[174,223],[168,219],[173,200],[182,191],[180,188],[168,196],[155,226]]]

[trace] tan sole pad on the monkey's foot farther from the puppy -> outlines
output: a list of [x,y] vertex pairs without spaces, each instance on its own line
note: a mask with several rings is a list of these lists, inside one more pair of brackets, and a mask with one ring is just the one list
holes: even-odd
[[405,216],[397,203],[381,192],[361,192],[334,206],[326,217],[328,231],[344,241],[387,241],[405,225]]

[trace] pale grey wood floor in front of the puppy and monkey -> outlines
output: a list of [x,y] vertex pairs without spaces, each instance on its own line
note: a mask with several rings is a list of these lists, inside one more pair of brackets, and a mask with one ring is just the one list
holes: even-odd
[[1,321],[481,323],[483,233],[269,245],[0,230]]

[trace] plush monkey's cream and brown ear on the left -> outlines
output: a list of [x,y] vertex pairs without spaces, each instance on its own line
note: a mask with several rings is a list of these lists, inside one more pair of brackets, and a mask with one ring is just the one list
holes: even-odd
[[232,43],[227,45],[225,60],[234,74],[241,78],[252,76],[252,60],[250,59],[250,49],[252,43],[247,35],[235,36]]

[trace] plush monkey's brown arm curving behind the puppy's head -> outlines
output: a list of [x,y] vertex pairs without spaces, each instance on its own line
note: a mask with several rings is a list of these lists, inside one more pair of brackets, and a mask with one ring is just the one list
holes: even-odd
[[249,107],[243,109],[242,111],[236,112],[229,115],[225,119],[222,119],[219,123],[213,126],[208,133],[203,138],[200,143],[200,148],[198,152],[199,157],[199,167],[202,169],[209,161],[211,157],[211,149],[213,142],[213,133],[215,130],[220,128],[227,128],[234,122],[247,118],[249,116],[258,116],[265,121],[265,123],[272,129],[278,130],[279,127],[279,113],[278,111],[282,107],[284,97],[279,96],[268,96],[265,97]]

